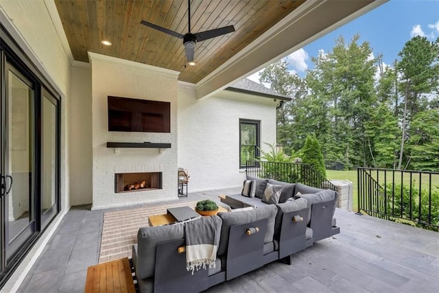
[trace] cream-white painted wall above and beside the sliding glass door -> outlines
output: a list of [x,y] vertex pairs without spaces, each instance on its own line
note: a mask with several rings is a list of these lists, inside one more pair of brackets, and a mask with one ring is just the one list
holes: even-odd
[[[51,3],[46,1],[0,1],[3,14],[14,27],[10,32],[16,37],[17,43],[25,47],[25,52],[29,56],[35,56],[32,60],[36,66],[55,82],[62,95],[61,109],[61,207],[66,210],[70,206],[69,196],[69,168],[68,168],[68,140],[67,136],[67,117],[69,115],[70,99],[70,63],[67,55],[60,43],[60,37],[56,32],[54,20],[48,11]],[[9,27],[6,23],[2,23]],[[19,40],[20,39],[20,40]],[[22,40],[24,39],[23,43]]]

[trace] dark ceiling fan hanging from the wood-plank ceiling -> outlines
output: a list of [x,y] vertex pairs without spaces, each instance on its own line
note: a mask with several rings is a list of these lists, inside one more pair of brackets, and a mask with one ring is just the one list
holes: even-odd
[[170,34],[171,36],[182,38],[183,45],[185,45],[186,60],[189,65],[195,65],[195,62],[193,62],[193,55],[195,51],[195,44],[197,42],[201,42],[202,40],[209,40],[209,38],[215,38],[215,36],[222,36],[223,34],[228,34],[230,32],[235,32],[235,27],[233,27],[233,25],[229,25],[227,27],[219,27],[214,30],[207,30],[205,32],[198,32],[196,34],[192,34],[191,33],[191,0],[187,0],[187,15],[189,19],[189,23],[188,23],[189,32],[187,32],[187,34],[179,34],[178,32],[168,30],[165,27],[154,25],[154,23],[148,23],[147,21],[141,21],[140,23],[146,25],[147,27],[152,27],[154,30],[159,30],[161,32],[164,32],[165,34]]

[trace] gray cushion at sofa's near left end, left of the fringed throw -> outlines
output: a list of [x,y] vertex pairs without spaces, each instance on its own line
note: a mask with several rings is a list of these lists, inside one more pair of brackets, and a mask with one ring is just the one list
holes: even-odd
[[145,279],[154,276],[158,243],[184,237],[185,225],[182,223],[140,228],[137,233],[137,278]]

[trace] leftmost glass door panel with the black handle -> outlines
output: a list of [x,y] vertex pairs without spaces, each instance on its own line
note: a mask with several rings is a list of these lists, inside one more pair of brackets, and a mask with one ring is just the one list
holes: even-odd
[[36,231],[34,84],[9,63],[5,66],[4,172],[10,178],[5,193],[6,261]]

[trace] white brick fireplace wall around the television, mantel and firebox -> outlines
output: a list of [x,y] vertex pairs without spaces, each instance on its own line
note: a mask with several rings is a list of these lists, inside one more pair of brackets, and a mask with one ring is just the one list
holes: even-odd
[[[122,207],[130,204],[177,198],[177,77],[174,72],[118,58],[90,54],[93,99],[93,207]],[[171,133],[109,132],[107,96],[171,102]],[[107,141],[171,143],[158,149],[106,148]],[[163,172],[163,189],[115,193],[116,172]]]

